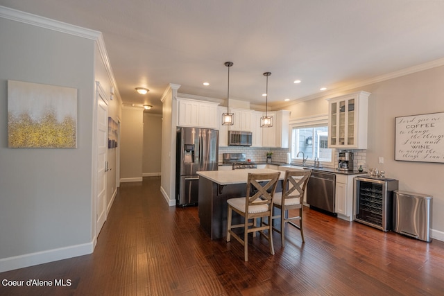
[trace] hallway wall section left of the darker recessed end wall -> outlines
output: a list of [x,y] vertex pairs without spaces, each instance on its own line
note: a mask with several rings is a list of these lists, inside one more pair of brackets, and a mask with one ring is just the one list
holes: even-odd
[[142,181],[144,141],[143,108],[123,107],[121,122],[120,181]]

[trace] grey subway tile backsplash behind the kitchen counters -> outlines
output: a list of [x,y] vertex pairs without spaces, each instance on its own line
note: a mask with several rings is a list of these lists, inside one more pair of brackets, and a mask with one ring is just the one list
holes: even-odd
[[[358,170],[361,165],[366,171],[366,150],[352,150],[353,151],[353,169]],[[287,163],[288,148],[256,148],[256,147],[219,147],[219,163],[222,163],[223,153],[245,153],[247,159],[251,159],[252,162],[266,162],[266,153],[272,152],[273,162]],[[337,152],[334,153],[334,164],[325,165],[325,167],[338,167]],[[307,162],[309,163],[309,162]]]

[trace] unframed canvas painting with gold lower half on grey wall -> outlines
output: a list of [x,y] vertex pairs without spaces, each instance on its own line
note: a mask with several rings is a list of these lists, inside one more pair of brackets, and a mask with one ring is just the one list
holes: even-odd
[[77,89],[8,80],[10,148],[76,148]]

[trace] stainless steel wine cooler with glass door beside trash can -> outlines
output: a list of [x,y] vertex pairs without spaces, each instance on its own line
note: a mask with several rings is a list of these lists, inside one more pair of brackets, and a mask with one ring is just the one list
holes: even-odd
[[355,177],[355,221],[383,232],[392,229],[393,191],[398,180],[381,177]]

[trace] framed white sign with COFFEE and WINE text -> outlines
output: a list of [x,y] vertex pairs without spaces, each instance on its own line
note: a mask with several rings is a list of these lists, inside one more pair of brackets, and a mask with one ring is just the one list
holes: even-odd
[[395,117],[395,160],[444,163],[444,112]]

